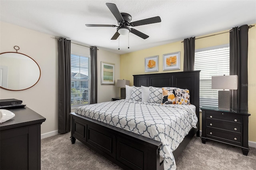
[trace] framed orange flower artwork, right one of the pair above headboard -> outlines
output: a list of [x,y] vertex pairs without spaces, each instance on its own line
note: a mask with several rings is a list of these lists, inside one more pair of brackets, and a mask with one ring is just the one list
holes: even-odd
[[163,71],[180,69],[180,51],[163,55]]

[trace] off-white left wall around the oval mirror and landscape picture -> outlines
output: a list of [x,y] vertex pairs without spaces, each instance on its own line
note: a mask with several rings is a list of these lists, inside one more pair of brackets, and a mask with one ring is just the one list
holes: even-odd
[[[36,85],[23,91],[0,88],[0,99],[19,99],[27,107],[46,118],[41,125],[41,134],[56,134],[58,131],[58,46],[54,36],[29,30],[6,22],[0,22],[0,53],[18,52],[32,57],[40,66],[41,77]],[[72,48],[79,48],[72,45]],[[85,51],[88,53],[88,49]],[[80,52],[78,54],[81,54]],[[120,78],[120,55],[103,49],[98,50],[98,103],[111,101],[120,95],[116,85],[100,85],[100,62],[115,64],[115,81]],[[74,111],[74,110],[72,110]]]

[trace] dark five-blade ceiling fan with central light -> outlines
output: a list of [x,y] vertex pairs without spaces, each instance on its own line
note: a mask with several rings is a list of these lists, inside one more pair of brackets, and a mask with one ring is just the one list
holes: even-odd
[[87,27],[117,27],[116,33],[111,38],[111,40],[116,40],[120,36],[120,34],[127,35],[129,32],[131,32],[132,34],[135,34],[136,36],[139,36],[143,39],[146,39],[149,37],[148,35],[140,32],[138,30],[135,30],[134,28],[129,28],[128,26],[135,27],[135,26],[142,26],[142,25],[146,25],[146,24],[153,24],[153,23],[161,22],[161,18],[159,16],[131,22],[132,16],[130,14],[127,14],[124,12],[120,13],[116,4],[106,3],[106,6],[108,6],[109,10],[112,12],[114,17],[116,18],[118,26],[104,25],[104,24],[85,24],[85,25]]

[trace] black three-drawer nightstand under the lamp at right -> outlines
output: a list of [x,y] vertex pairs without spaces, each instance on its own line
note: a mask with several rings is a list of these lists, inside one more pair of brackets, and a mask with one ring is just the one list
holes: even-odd
[[239,146],[248,155],[248,117],[247,110],[221,110],[218,107],[202,107],[202,143],[207,139]]

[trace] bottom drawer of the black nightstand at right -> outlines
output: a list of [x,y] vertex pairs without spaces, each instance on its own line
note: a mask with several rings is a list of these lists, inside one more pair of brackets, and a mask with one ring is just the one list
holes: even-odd
[[207,138],[212,138],[222,142],[228,142],[231,144],[241,145],[242,136],[239,134],[225,133],[224,131],[214,130],[212,128],[206,129]]

